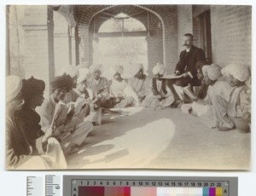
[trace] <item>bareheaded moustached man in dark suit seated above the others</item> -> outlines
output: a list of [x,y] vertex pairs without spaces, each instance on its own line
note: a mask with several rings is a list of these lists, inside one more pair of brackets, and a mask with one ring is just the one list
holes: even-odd
[[[201,80],[197,78],[197,64],[206,62],[206,55],[202,49],[199,49],[193,45],[193,35],[186,33],[183,35],[183,46],[185,49],[179,55],[179,61],[175,68],[175,74],[181,76],[181,78],[175,80],[169,80],[168,86],[176,84],[177,86],[200,86]],[[174,105],[178,107],[182,102],[177,95],[176,90],[172,86],[172,93],[175,97]]]

